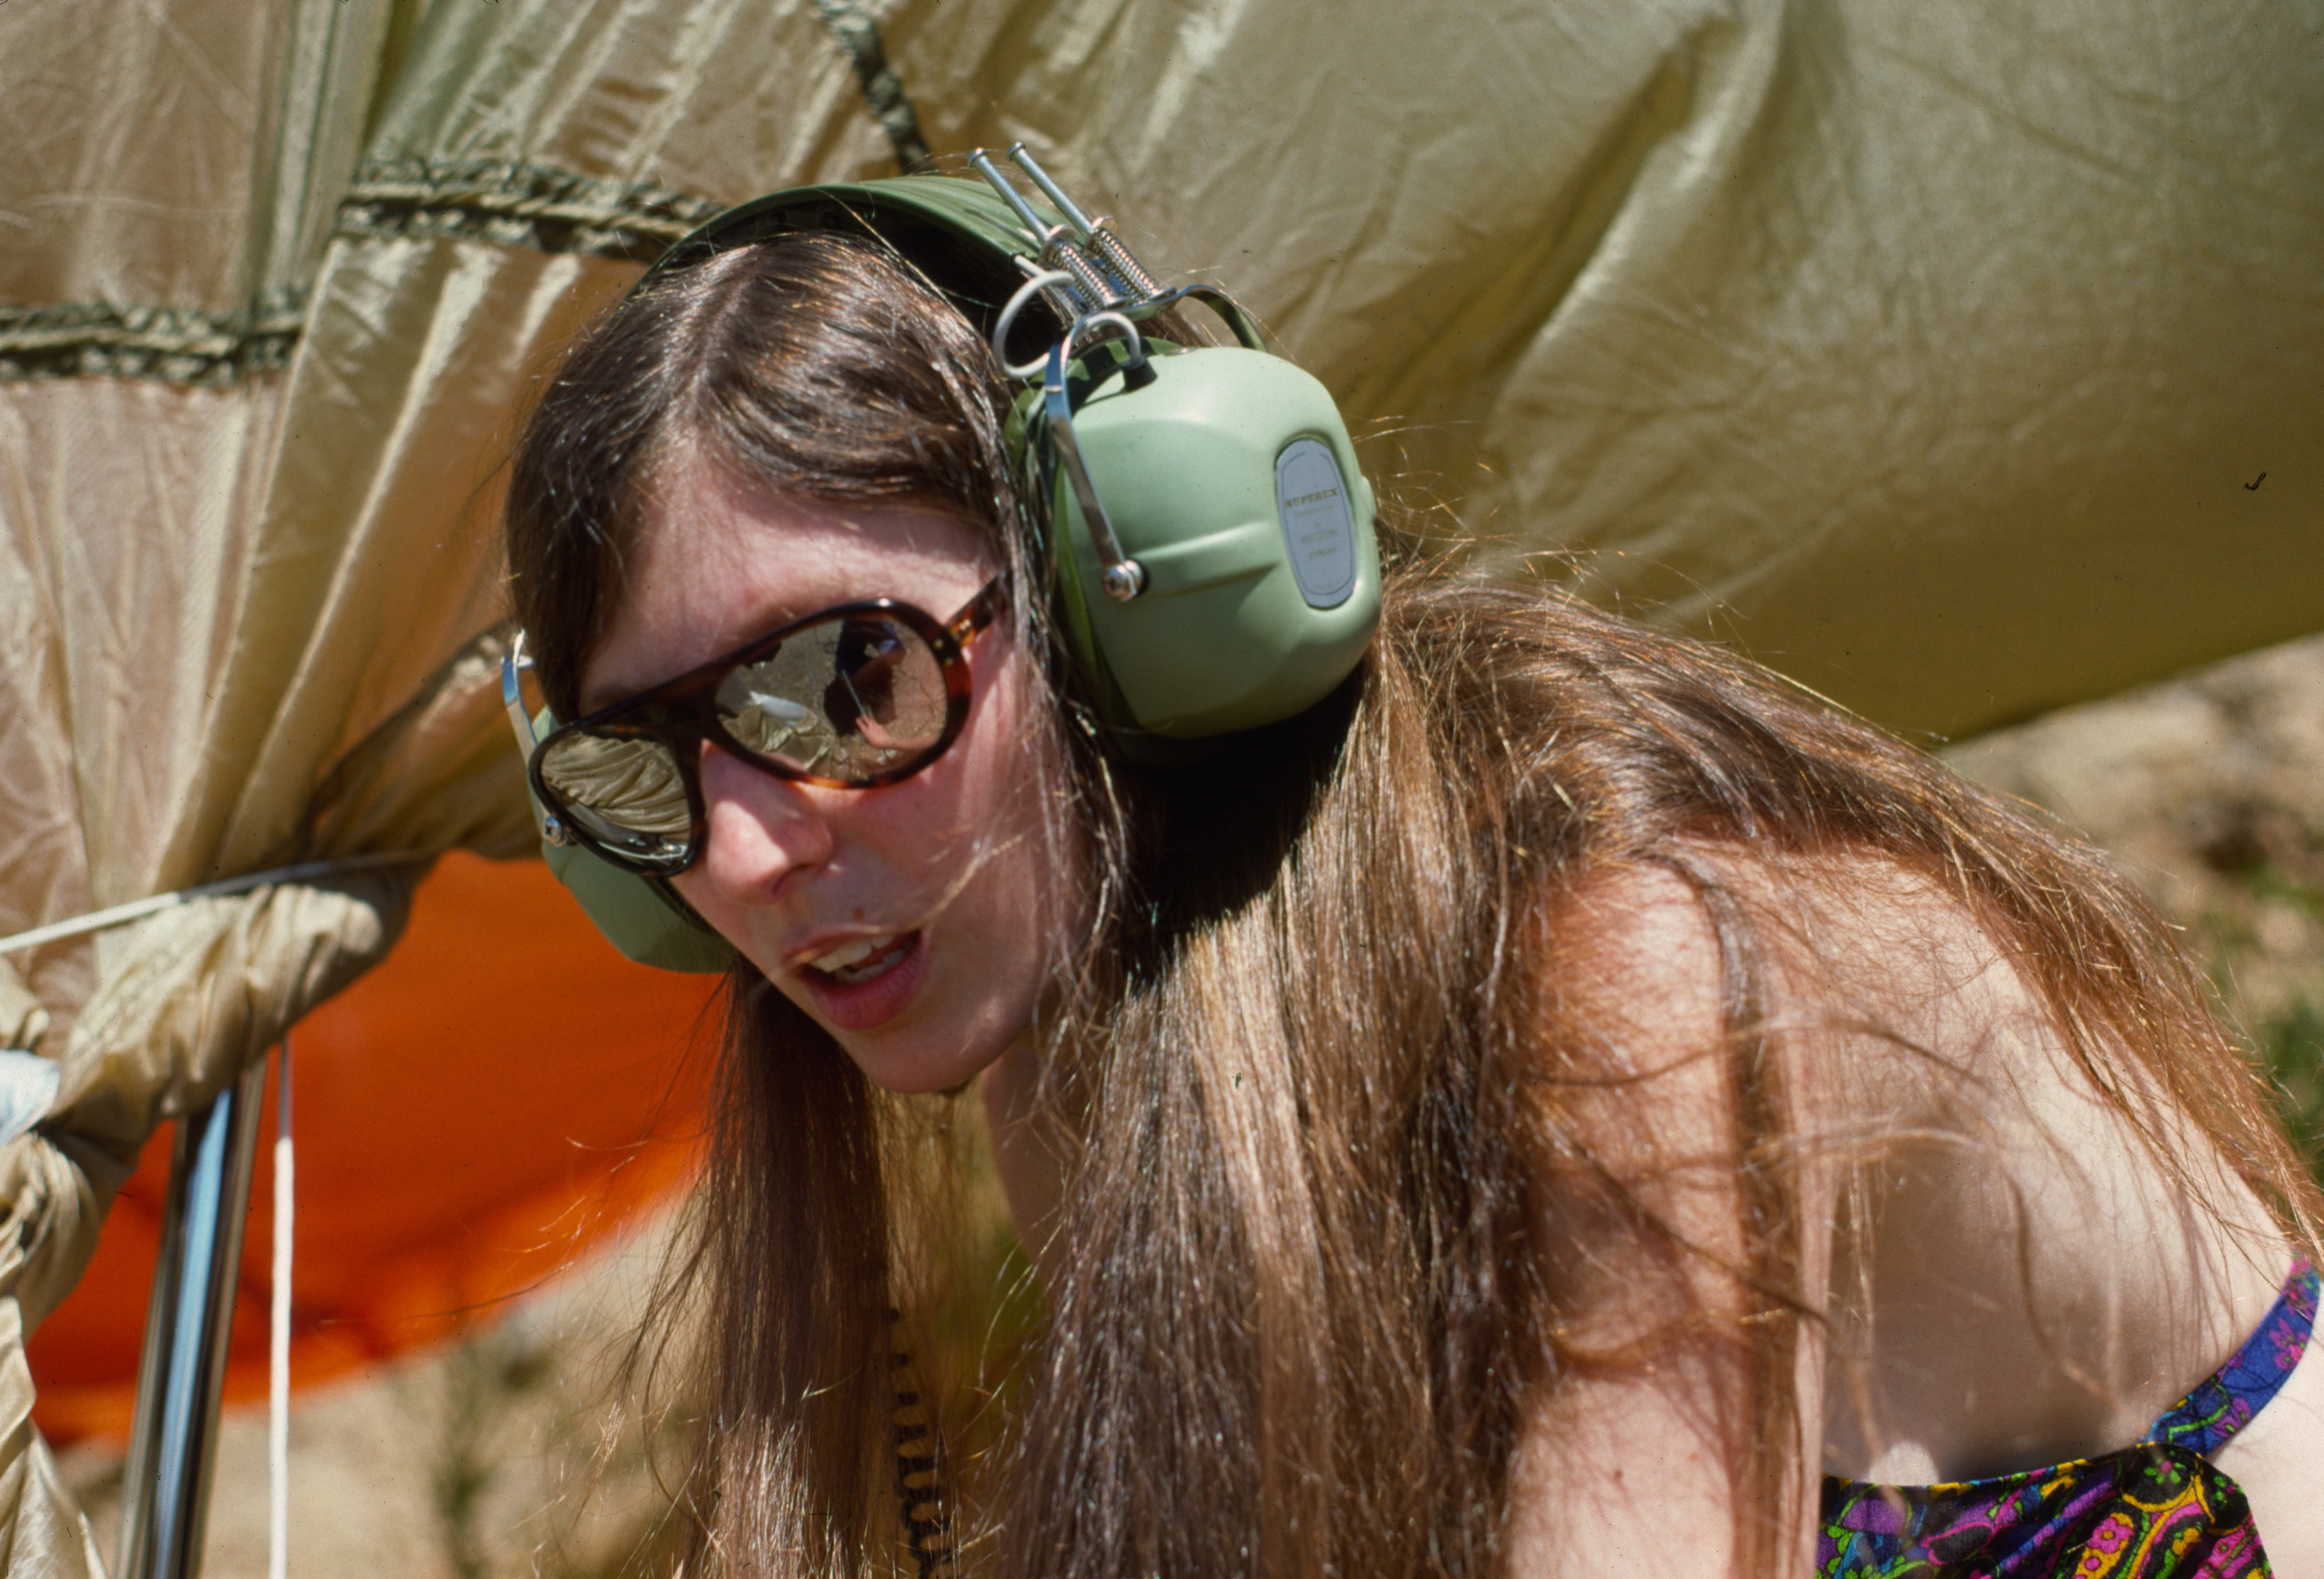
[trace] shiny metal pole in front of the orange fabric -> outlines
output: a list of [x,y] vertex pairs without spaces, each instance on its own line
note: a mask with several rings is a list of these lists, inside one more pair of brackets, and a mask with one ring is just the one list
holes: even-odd
[[218,1386],[235,1323],[265,1084],[267,1060],[260,1058],[207,1109],[177,1121],[121,1486],[121,1579],[193,1579],[202,1570]]

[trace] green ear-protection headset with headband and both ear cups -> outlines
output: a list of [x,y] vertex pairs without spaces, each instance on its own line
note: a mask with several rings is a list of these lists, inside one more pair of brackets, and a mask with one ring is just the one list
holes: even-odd
[[[978,151],[969,163],[983,181],[892,177],[744,202],[674,244],[639,286],[795,230],[885,244],[1027,381],[1009,421],[1011,456],[1025,495],[1048,502],[1060,628],[1106,740],[1132,760],[1183,760],[1183,742],[1313,707],[1362,658],[1380,614],[1371,488],[1339,407],[1262,346],[1232,298],[1160,288],[1023,147],[1009,156],[1048,209]],[[1011,360],[1037,298],[1064,333]],[[1181,302],[1208,307],[1236,344],[1148,337],[1143,326]],[[502,698],[530,753],[553,721],[525,707],[523,667],[518,642]],[[665,970],[732,960],[665,884],[541,821],[551,870],[616,949]]]

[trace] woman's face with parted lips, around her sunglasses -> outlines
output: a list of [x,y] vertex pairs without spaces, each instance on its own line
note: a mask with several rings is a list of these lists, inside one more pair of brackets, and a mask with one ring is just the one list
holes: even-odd
[[[978,535],[913,505],[825,505],[681,460],[646,507],[627,593],[581,677],[597,709],[781,623],[865,598],[951,619],[992,579]],[[918,774],[881,788],[776,779],[704,746],[709,846],[686,902],[862,1072],[944,1091],[1034,1014],[1076,863],[1053,853],[1048,730],[1006,619],[967,646],[969,719]]]

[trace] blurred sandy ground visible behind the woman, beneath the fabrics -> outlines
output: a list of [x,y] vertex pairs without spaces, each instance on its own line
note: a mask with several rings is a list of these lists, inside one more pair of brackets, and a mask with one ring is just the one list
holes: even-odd
[[[2080,828],[2185,930],[2324,1160],[2324,637],[2075,707],[1950,751]],[[451,1351],[302,1398],[290,1572],[614,1579],[655,1570],[665,1498],[609,1377],[660,1237],[576,1270]],[[65,1456],[109,1553],[119,1453]],[[228,1416],[211,1579],[265,1574],[265,1414]]]

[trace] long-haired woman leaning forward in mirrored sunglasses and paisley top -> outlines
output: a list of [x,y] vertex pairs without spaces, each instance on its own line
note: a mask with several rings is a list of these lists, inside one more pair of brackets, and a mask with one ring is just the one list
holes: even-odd
[[974,1086],[1046,1328],[983,1505],[906,1458],[927,1563],[951,1519],[1011,1577],[2233,1574],[2257,1523],[2324,1574],[2315,1188],[2099,858],[1408,546],[1322,705],[1134,765],[990,330],[855,235],[716,251],[511,474],[560,719],[878,598],[967,691],[934,751],[799,753],[776,698],[683,765],[669,888],[739,956],[688,1572],[897,1560],[888,1312],[948,1246],[895,1098]]

